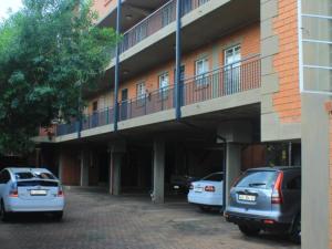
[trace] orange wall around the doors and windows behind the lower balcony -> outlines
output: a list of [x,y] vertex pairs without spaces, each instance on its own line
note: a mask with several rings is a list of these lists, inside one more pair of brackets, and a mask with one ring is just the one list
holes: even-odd
[[[249,58],[255,54],[260,53],[260,25],[259,23],[251,24],[241,30],[238,30],[231,34],[228,34],[212,44],[198,49],[189,54],[185,54],[183,56],[183,65],[185,65],[185,77],[191,77],[195,75],[195,62],[201,56],[207,58],[209,62],[209,70],[212,70],[212,56],[214,56],[214,49],[217,48],[218,50],[218,66],[224,65],[224,52],[225,49],[228,49],[232,45],[241,45],[241,58]],[[158,90],[158,76],[164,73],[168,72],[169,76],[169,84],[174,84],[174,69],[175,69],[175,61],[168,62],[162,66],[156,69],[152,69],[145,74],[142,74],[137,77],[134,77],[127,82],[122,82],[120,85],[120,96],[121,100],[121,91],[123,89],[128,89],[128,98],[136,97],[136,85],[141,82],[145,82],[145,86],[147,92]],[[112,97],[112,93],[107,93],[110,97]],[[89,104],[89,112],[92,111],[92,102],[98,100],[100,96],[90,100]],[[111,102],[111,106],[113,102]]]

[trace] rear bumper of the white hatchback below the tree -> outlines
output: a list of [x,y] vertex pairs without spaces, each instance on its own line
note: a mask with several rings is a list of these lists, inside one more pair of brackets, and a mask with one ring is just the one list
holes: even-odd
[[63,209],[63,197],[56,197],[50,200],[27,200],[20,198],[9,198],[7,204],[7,211],[9,212],[62,211]]

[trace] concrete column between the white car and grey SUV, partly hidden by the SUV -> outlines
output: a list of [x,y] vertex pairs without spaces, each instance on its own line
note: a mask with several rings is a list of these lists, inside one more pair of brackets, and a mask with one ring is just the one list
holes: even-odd
[[[229,195],[231,185],[241,174],[241,145],[237,143],[227,143],[226,148],[226,195]],[[226,196],[226,206],[228,196]]]

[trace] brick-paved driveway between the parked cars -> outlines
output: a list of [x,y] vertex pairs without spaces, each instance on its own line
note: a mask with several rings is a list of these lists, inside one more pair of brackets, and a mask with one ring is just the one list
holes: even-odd
[[1,249],[299,249],[282,237],[246,238],[219,214],[184,203],[153,205],[145,198],[111,197],[72,189],[63,221],[17,216],[0,221]]

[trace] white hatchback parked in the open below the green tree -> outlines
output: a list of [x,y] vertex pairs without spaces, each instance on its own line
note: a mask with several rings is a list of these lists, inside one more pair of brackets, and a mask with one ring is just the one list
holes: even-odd
[[4,168],[0,172],[0,216],[14,212],[52,212],[63,216],[64,196],[60,180],[44,168]]

